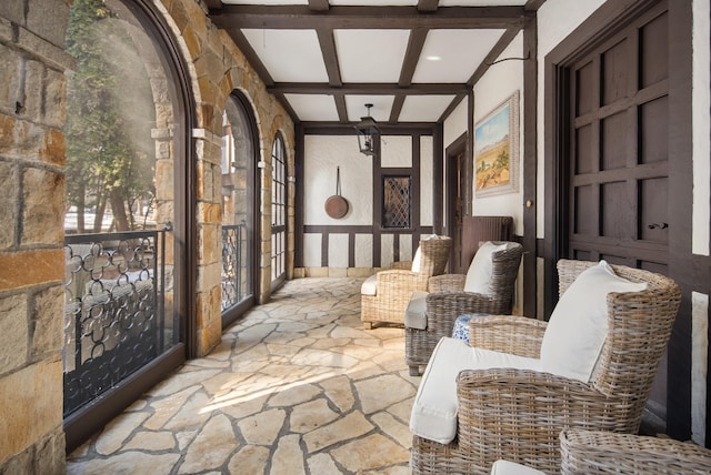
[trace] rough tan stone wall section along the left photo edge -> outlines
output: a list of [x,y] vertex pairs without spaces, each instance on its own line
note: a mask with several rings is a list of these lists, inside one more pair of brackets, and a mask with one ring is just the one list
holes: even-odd
[[0,2],[0,473],[64,473],[63,0]]

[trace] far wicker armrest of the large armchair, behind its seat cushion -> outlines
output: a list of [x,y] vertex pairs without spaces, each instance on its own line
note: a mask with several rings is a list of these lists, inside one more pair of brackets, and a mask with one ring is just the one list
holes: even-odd
[[539,357],[548,324],[524,316],[489,315],[469,321],[469,344],[519,356]]

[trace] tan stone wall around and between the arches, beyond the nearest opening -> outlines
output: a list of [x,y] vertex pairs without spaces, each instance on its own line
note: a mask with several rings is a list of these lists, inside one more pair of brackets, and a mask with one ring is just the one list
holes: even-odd
[[[288,174],[293,176],[293,123],[281,104],[267,92],[263,82],[231,38],[207,18],[207,7],[194,0],[161,0],[170,26],[181,38],[183,54],[190,62],[197,127],[193,131],[197,159],[198,355],[206,355],[221,341],[221,134],[222,112],[230,93],[238,89],[251,101],[259,129],[260,186],[258,213],[261,213],[261,255],[259,262],[259,302],[269,300],[271,280],[271,149],[277,131],[282,133],[288,156]],[[292,184],[292,183],[290,183]],[[289,193],[290,210],[293,193]],[[292,212],[292,211],[290,211]],[[290,226],[293,242],[293,225]],[[292,245],[290,244],[292,247]],[[287,262],[293,263],[293,249]],[[292,269],[291,265],[290,269]],[[291,275],[291,271],[289,272]]]

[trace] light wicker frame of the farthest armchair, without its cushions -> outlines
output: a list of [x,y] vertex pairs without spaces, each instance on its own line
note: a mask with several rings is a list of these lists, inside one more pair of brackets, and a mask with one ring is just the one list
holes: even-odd
[[404,310],[413,291],[427,291],[428,280],[440,275],[447,267],[452,239],[420,241],[419,271],[412,271],[411,262],[395,262],[387,271],[375,274],[375,294],[361,294],[361,321],[367,330],[374,322],[404,322]]

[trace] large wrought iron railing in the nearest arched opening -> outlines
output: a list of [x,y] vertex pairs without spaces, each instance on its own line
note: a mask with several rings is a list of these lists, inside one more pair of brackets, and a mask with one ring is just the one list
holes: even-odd
[[64,417],[178,337],[164,316],[166,231],[64,239]]

